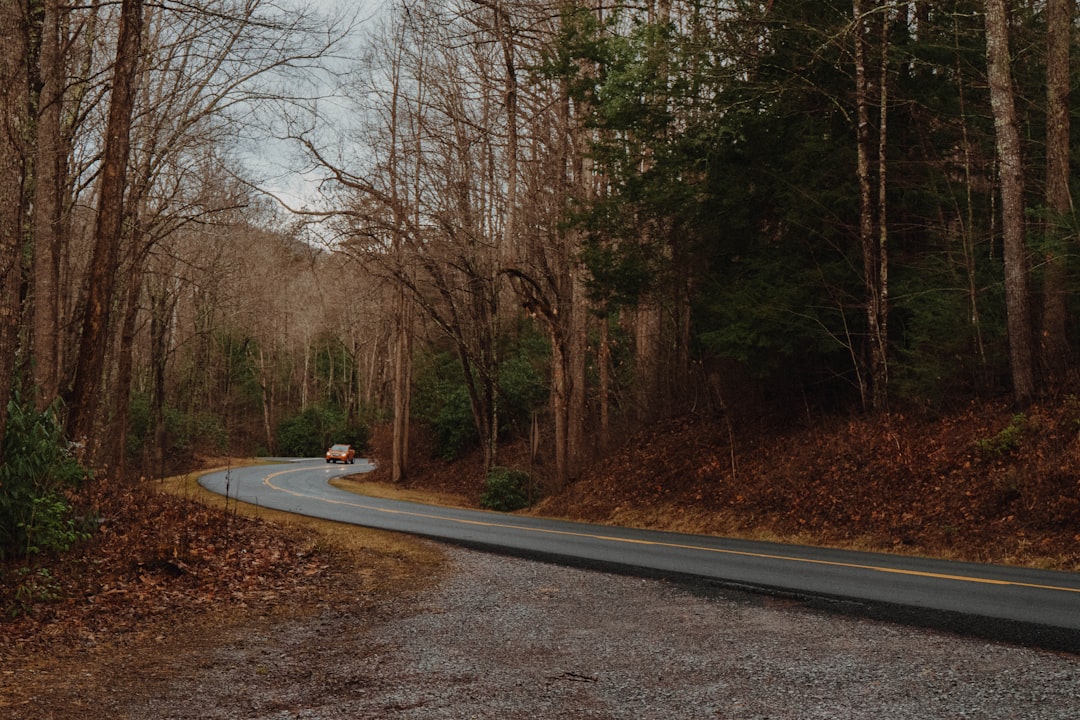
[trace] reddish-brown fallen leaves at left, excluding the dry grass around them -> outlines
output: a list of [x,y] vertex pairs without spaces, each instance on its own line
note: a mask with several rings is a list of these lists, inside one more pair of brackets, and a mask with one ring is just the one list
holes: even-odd
[[[333,574],[337,562],[295,530],[146,485],[99,484],[81,501],[99,517],[89,543],[48,563],[44,580],[29,588],[6,570],[0,604],[17,614],[0,624],[6,647],[93,646],[158,617],[273,602]],[[35,592],[59,601],[30,606],[15,597]]]

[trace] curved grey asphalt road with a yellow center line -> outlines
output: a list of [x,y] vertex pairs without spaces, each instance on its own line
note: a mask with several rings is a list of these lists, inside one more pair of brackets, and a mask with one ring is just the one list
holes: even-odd
[[374,465],[322,459],[204,475],[274,510],[483,549],[738,587],[995,640],[1080,653],[1080,574],[588,525],[357,495],[329,485]]

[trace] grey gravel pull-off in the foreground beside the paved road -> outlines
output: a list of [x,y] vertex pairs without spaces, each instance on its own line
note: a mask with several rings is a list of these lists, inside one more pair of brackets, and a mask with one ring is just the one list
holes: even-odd
[[[267,623],[116,718],[1076,720],[1080,656],[448,548],[401,607]],[[131,687],[131,683],[126,683]]]

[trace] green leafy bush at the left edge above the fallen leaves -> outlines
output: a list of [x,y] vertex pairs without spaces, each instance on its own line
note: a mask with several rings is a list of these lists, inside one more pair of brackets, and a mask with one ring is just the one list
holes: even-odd
[[55,406],[39,412],[13,397],[0,457],[0,559],[66,552],[89,536],[65,495],[86,475],[67,449]]

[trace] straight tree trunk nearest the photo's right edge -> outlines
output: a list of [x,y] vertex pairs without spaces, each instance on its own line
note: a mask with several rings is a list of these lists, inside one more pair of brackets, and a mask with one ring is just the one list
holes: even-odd
[[1071,254],[1069,194],[1069,41],[1074,0],[1047,0],[1047,222],[1049,247],[1043,285],[1040,355],[1045,381],[1058,386],[1069,362],[1065,273]]

